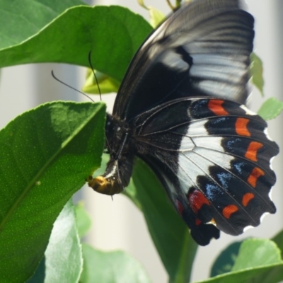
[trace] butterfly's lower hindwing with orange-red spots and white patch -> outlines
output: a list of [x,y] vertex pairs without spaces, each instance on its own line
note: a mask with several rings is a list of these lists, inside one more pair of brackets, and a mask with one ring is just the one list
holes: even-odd
[[[173,117],[173,118],[170,118]],[[267,124],[228,100],[181,98],[136,117],[133,144],[160,178],[200,245],[258,226],[275,213]]]

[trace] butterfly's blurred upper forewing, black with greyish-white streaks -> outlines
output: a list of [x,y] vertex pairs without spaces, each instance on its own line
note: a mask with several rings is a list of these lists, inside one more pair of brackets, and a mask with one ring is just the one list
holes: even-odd
[[253,36],[253,17],[238,8],[238,0],[185,4],[135,54],[113,115],[129,121],[187,96],[229,96],[245,103]]

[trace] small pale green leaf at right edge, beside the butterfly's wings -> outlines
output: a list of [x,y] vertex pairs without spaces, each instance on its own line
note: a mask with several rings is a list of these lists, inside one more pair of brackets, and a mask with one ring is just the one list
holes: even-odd
[[258,115],[264,120],[275,119],[283,110],[283,102],[277,98],[268,98],[258,110]]

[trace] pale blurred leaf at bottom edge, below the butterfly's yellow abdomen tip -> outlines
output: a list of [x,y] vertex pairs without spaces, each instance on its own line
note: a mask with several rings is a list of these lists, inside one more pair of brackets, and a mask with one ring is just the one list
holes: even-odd
[[141,264],[122,251],[102,252],[83,244],[80,283],[149,283]]

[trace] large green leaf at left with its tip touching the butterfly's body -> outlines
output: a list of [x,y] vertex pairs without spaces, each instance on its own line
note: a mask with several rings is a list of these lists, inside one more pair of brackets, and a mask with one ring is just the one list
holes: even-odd
[[24,282],[39,264],[52,224],[100,166],[103,103],[47,103],[0,132],[0,282]]

